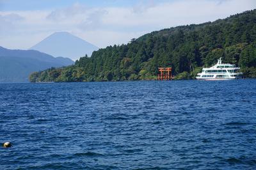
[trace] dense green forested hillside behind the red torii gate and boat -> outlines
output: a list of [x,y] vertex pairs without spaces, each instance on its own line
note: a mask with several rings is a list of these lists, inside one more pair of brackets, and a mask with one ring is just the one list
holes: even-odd
[[195,78],[202,66],[223,62],[256,77],[256,10],[204,24],[154,31],[127,45],[84,56],[75,65],[31,73],[30,81],[124,81],[156,79],[159,66],[172,66],[177,79]]

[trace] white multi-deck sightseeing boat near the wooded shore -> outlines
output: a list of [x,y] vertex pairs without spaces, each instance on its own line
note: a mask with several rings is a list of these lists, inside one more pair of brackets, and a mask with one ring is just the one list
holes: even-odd
[[198,73],[196,79],[209,81],[239,79],[242,75],[239,69],[236,65],[222,64],[220,58],[216,65],[203,68],[202,73]]

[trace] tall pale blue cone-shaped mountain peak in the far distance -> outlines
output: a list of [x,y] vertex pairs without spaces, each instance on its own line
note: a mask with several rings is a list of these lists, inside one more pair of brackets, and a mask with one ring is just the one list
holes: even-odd
[[55,57],[62,56],[76,60],[86,54],[91,56],[92,52],[99,48],[70,33],[56,32],[30,49],[45,52]]

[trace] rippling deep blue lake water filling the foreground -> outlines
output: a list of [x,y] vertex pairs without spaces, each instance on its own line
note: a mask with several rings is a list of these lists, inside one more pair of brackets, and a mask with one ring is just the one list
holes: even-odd
[[256,79],[0,84],[0,169],[256,169]]

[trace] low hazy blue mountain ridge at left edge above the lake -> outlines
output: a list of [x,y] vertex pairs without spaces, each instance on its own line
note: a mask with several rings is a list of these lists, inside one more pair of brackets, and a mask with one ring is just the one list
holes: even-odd
[[37,50],[10,50],[0,46],[0,82],[28,82],[31,72],[74,64]]

